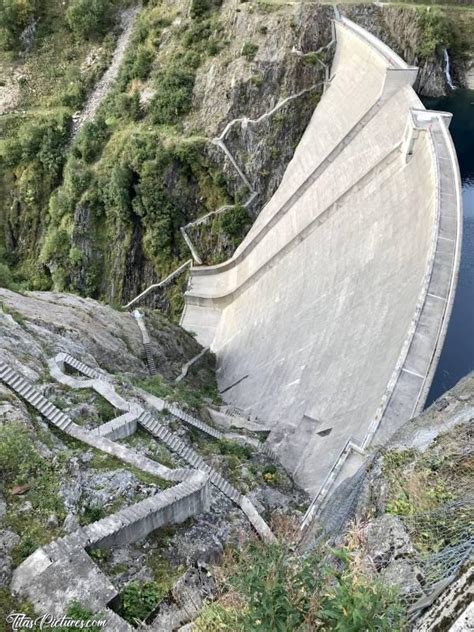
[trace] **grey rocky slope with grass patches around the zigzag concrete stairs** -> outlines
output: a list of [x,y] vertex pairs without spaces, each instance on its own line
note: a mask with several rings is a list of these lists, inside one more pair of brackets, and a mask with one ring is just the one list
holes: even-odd
[[[227,420],[227,431],[237,423],[224,412],[215,412],[221,402],[212,356],[201,356],[185,375],[182,373],[183,367],[202,351],[191,335],[146,311],[151,354],[158,371],[150,376],[140,329],[129,313],[92,299],[51,292],[17,294],[0,290],[0,305],[0,361],[19,372],[47,398],[49,406],[67,415],[72,425],[91,436],[120,411],[90,385],[75,390],[57,381],[50,373],[48,360],[58,353],[71,354],[89,367],[106,371],[107,380],[121,397],[153,412],[155,419],[173,432],[175,447],[179,440],[186,449],[201,454],[239,494],[248,495],[248,502],[261,514],[301,517],[301,509],[309,499],[262,449],[257,435],[235,428],[221,439],[206,436],[178,421],[167,408],[157,411],[149,403],[160,397],[171,409],[177,402],[181,410],[192,411],[210,424],[208,412],[212,406],[219,419]],[[76,374],[71,371],[71,375]],[[178,377],[181,381],[176,383]],[[256,427],[250,422],[248,425]],[[216,432],[214,429],[214,435]],[[94,442],[85,444],[47,423],[33,405],[1,383],[2,630],[8,629],[2,626],[12,611],[33,615],[31,605],[18,600],[11,588],[12,572],[25,559],[58,538],[77,534],[82,527],[123,508],[136,507],[139,501],[173,485],[174,481],[147,474],[141,469],[142,463],[154,462],[165,469],[186,467],[186,461],[172,452],[169,444],[143,430],[110,444],[119,458],[112,456],[115,452],[104,451]],[[124,449],[136,455],[136,466],[120,458]],[[188,622],[197,615],[204,598],[212,594],[207,565],[221,556],[224,547],[255,537],[246,515],[217,488],[212,490],[210,500],[208,511],[196,513],[182,525],[91,553],[93,563],[121,594],[114,607],[123,618],[133,623],[135,617],[149,617],[150,621],[158,617],[157,629],[170,632]],[[75,572],[70,563],[70,558],[64,561],[66,573]],[[60,586],[62,592],[65,589]],[[83,585],[81,590],[78,596],[87,608],[93,584]],[[189,609],[187,599],[193,601],[193,608]],[[70,604],[56,605],[68,608]],[[81,613],[84,616],[84,610]]]

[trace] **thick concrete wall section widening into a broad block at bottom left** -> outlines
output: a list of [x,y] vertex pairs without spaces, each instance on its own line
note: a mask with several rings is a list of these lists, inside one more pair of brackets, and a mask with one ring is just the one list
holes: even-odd
[[[117,597],[117,589],[85,549],[139,541],[165,524],[181,523],[197,511],[208,510],[207,478],[190,471],[189,479],[179,485],[37,549],[15,569],[12,589],[39,611],[58,618],[64,614],[64,604],[77,597],[87,599],[92,612],[103,612]],[[109,616],[104,629],[133,629],[113,611],[105,612]]]

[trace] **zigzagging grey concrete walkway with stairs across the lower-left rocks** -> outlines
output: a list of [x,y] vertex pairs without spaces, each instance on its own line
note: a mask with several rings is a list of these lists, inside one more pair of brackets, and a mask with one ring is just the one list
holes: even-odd
[[[67,375],[64,372],[66,366],[85,377]],[[108,375],[64,353],[49,361],[49,369],[60,383],[73,389],[93,389],[123,414],[93,431],[88,431],[75,424],[20,373],[3,362],[0,362],[0,380],[38,410],[49,423],[69,436],[144,472],[165,480],[181,482],[37,549],[20,564],[14,572],[12,589],[15,594],[28,598],[37,612],[60,617],[65,614],[71,601],[83,602],[87,596],[88,608],[97,613],[97,618],[107,620],[105,630],[131,630],[125,621],[107,608],[107,604],[118,592],[85,549],[121,546],[143,539],[166,524],[180,523],[190,516],[208,511],[209,481],[241,508],[262,538],[274,541],[268,525],[252,503],[151,414],[118,395]],[[159,401],[164,408],[165,402]],[[195,420],[178,407],[171,406],[170,412],[215,438],[222,437],[221,433]],[[172,470],[114,441],[133,434],[138,423],[195,469]]]

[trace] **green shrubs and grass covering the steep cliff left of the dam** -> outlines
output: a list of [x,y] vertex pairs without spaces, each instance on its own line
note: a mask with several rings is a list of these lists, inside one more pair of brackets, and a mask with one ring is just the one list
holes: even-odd
[[[223,204],[235,203],[235,211],[216,218],[213,240],[223,236],[227,256],[236,247],[250,226],[239,206],[247,193],[241,183],[229,186],[219,164],[224,155],[186,122],[197,70],[229,45],[220,4],[196,0],[184,17],[179,4],[147,2],[117,82],[72,145],[73,114],[110,59],[113,37],[104,34],[124,4],[97,0],[90,12],[82,0],[62,9],[31,5],[25,25],[36,24],[36,17],[38,24],[27,63],[43,55],[49,69],[32,68],[34,81],[42,74],[47,80],[36,89],[28,75],[18,104],[23,109],[2,120],[0,272],[6,285],[121,304],[188,258],[180,227]],[[23,60],[19,38],[10,38],[8,55]],[[63,44],[66,63],[59,63],[52,53]],[[258,46],[247,44],[239,55],[251,64]],[[253,79],[255,92],[262,84]],[[179,289],[169,300],[179,311]]]

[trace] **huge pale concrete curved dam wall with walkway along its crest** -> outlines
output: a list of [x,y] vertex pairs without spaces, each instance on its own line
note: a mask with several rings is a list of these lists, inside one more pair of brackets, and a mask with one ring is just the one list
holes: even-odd
[[[311,493],[351,438],[423,406],[455,291],[460,180],[417,69],[349,20],[281,185],[234,256],[193,268],[182,316],[223,396],[272,427]],[[345,475],[350,474],[346,471]]]

